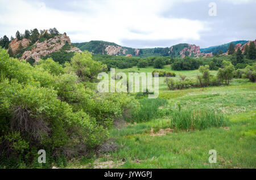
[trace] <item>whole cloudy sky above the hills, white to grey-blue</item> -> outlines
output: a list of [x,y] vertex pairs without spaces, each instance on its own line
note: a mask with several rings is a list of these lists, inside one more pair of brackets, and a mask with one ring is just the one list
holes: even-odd
[[0,37],[56,27],[71,42],[200,48],[256,38],[256,0],[0,0]]

